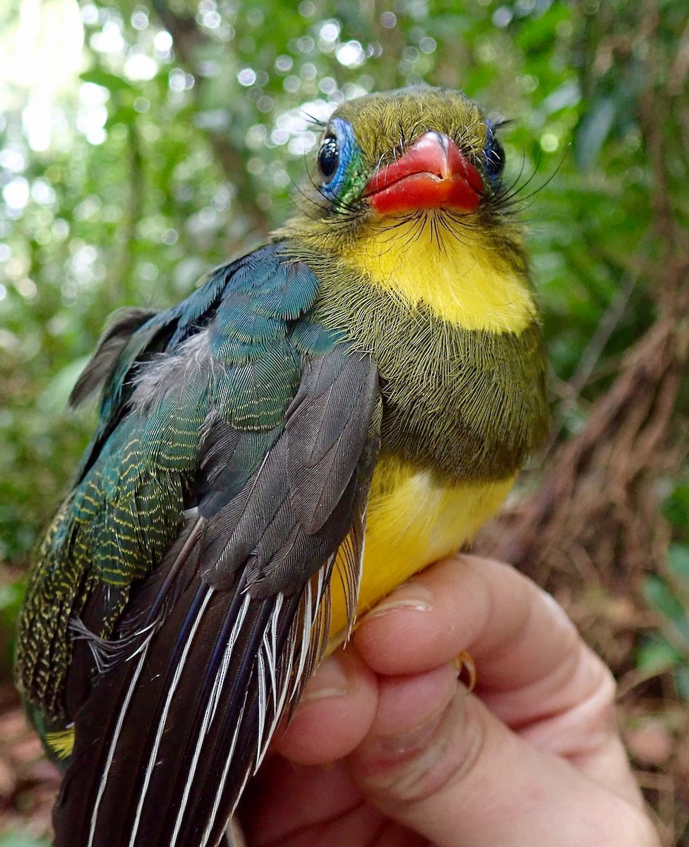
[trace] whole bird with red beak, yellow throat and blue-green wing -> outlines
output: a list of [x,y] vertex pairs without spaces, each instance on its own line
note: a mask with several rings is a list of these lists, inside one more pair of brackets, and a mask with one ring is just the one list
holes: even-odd
[[114,314],[19,616],[56,847],[219,844],[319,661],[470,544],[542,445],[499,126],[445,88],[342,102],[262,246]]

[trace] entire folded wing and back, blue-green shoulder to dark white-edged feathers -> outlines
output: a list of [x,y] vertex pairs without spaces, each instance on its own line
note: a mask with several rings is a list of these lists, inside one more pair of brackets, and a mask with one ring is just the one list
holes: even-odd
[[105,379],[101,424],[18,638],[49,745],[74,742],[58,845],[216,844],[317,661],[341,546],[356,593],[379,390],[317,291],[262,248],[120,316],[75,390]]

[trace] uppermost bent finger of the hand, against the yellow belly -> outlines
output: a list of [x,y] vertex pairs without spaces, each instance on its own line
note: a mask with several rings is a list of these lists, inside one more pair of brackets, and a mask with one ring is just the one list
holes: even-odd
[[438,562],[366,617],[355,644],[381,674],[420,673],[468,650],[475,692],[497,717],[642,805],[612,675],[553,598],[514,568],[475,556]]

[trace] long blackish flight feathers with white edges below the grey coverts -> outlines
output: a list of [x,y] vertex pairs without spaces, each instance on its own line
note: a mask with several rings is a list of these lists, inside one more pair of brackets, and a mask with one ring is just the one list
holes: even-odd
[[[219,844],[319,659],[331,569],[332,560],[301,594],[261,600],[241,583],[234,592],[199,579],[186,585],[136,655],[103,674],[77,718],[55,847]],[[75,844],[77,832],[86,834]]]

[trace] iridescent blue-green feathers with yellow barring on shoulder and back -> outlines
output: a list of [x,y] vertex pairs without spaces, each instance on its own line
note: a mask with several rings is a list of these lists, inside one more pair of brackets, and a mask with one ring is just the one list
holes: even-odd
[[[113,598],[99,606],[103,619],[91,621],[94,635],[107,639],[128,587],[181,529],[214,422],[263,433],[243,436],[231,462],[236,485],[248,479],[297,390],[303,350],[288,338],[290,322],[317,288],[303,263],[284,261],[280,245],[270,245],[218,268],[166,312],[119,313],[103,335],[73,392],[80,402],[103,385],[100,423],[47,534],[20,632],[20,684],[55,719],[74,717],[60,700],[69,621],[88,604],[84,580],[88,592]],[[30,623],[44,615],[34,632]]]

